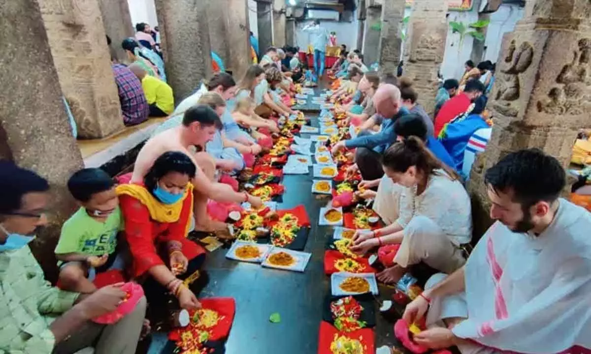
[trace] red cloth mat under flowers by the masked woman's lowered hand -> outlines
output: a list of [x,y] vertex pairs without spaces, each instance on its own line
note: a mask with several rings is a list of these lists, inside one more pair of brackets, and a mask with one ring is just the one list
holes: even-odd
[[[199,299],[203,309],[214,310],[218,316],[222,317],[218,320],[215,327],[210,332],[208,341],[225,339],[230,334],[232,322],[234,321],[234,314],[236,313],[236,301],[232,297],[212,297],[209,299]],[[168,333],[168,339],[177,342],[181,339],[184,332],[194,329],[193,326],[194,311],[189,312],[191,321],[189,326],[184,328],[176,328]]]

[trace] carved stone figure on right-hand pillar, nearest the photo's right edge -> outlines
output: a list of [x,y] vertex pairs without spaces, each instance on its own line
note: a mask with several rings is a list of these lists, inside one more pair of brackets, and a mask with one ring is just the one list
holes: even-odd
[[564,64],[556,77],[558,86],[548,91],[545,99],[536,104],[538,112],[547,114],[578,115],[591,109],[591,40],[583,38],[577,42],[573,60]]

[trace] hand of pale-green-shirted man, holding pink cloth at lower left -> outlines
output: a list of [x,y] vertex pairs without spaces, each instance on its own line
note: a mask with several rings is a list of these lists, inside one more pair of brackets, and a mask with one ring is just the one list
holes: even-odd
[[118,283],[102,287],[80,301],[76,306],[79,306],[86,319],[93,319],[105,313],[113,312],[125,299],[126,293],[121,290],[123,284]]

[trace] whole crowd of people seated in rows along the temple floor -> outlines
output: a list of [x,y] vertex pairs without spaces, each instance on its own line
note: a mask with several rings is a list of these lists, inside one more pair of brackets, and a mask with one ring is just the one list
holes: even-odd
[[[147,301],[170,294],[177,307],[200,306],[183,280],[202,268],[205,251],[187,234],[226,229],[210,217],[208,205],[262,205],[258,196],[239,191],[233,177],[271,148],[278,119],[299,113],[290,103],[294,77],[303,69],[297,49],[268,48],[238,82],[228,73],[213,74],[175,108],[155,59],[158,37],[145,24],[137,29],[135,39],[122,43],[131,64],[113,63],[126,122],[170,117],[142,146],[130,175],[115,183],[102,170],[86,168],[67,181],[80,208],[63,224],[54,250],[59,287],[44,280],[28,247],[47,224],[50,186],[33,171],[1,162],[0,350],[74,353],[95,346],[96,353],[133,353],[149,329]],[[313,80],[319,80],[328,34],[317,23],[307,30],[318,36]],[[394,266],[378,274],[387,284],[419,263],[438,272],[404,313],[408,323],[427,319],[428,329],[414,340],[432,349],[456,345],[462,353],[591,348],[591,244],[584,231],[591,215],[560,198],[566,176],[555,158],[520,150],[486,171],[496,222],[467,257],[475,242],[466,153],[472,140],[490,135],[483,112],[494,65],[466,63],[461,80],[444,81],[432,119],[409,80],[369,71],[355,51],[341,54],[329,72],[335,78],[329,99],[341,124],[358,133],[331,151],[353,153],[347,173],[361,173],[361,198],[374,200],[384,222],[356,232],[352,251],[400,245]],[[141,284],[147,301],[115,324],[93,323],[125,300],[121,284],[93,283],[112,269]]]

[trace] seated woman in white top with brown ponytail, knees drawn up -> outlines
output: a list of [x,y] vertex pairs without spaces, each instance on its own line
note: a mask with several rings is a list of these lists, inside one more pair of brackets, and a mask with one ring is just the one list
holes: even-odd
[[352,250],[400,244],[395,266],[378,274],[396,283],[407,268],[420,262],[452,273],[466,262],[460,245],[472,239],[470,198],[453,169],[444,166],[420,138],[411,136],[384,153],[384,172],[402,188],[399,215],[393,224],[371,233],[356,232]]

